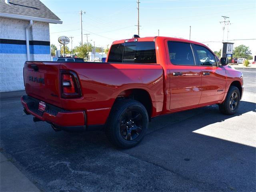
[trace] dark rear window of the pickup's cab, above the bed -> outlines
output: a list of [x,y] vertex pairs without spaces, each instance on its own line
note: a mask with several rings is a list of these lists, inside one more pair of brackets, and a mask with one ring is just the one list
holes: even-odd
[[127,42],[111,46],[108,62],[156,64],[155,42]]

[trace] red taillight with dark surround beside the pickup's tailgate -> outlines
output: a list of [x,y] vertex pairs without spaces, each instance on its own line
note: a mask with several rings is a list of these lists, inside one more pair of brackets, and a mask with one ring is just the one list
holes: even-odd
[[61,90],[62,98],[78,98],[82,96],[76,73],[72,71],[61,71]]

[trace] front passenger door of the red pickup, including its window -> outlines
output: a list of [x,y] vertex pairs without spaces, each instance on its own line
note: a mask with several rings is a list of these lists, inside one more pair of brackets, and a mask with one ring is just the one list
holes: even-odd
[[218,65],[214,54],[206,47],[193,45],[196,62],[202,70],[202,96],[199,104],[221,101],[226,88],[226,70]]

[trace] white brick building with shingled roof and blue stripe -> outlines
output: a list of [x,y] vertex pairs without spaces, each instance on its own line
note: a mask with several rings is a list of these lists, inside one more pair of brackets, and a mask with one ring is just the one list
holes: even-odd
[[0,92],[24,89],[26,60],[51,60],[49,23],[62,21],[40,0],[0,0]]

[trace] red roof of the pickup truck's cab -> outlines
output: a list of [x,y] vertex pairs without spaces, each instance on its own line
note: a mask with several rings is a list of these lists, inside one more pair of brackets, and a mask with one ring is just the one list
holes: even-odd
[[139,41],[155,41],[157,39],[171,39],[171,40],[174,40],[174,41],[182,41],[182,42],[188,42],[188,43],[195,43],[195,44],[201,44],[203,46],[205,46],[204,44],[202,43],[199,43],[199,42],[195,42],[195,41],[191,41],[191,40],[187,40],[187,39],[182,39],[182,38],[174,38],[174,37],[164,37],[164,36],[154,36],[154,37],[140,37],[140,38],[128,38],[128,39],[122,39],[122,40],[117,40],[117,41],[114,41],[112,44],[119,44],[119,43],[124,43],[125,40],[132,40],[132,39],[138,39],[138,42]]

